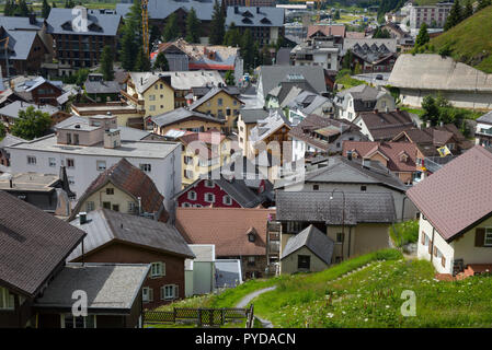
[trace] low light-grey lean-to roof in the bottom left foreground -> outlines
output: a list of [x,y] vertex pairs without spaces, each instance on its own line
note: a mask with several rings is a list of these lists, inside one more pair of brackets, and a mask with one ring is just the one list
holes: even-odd
[[36,307],[70,308],[72,293],[84,291],[88,310],[128,314],[149,272],[144,264],[68,264],[49,283]]

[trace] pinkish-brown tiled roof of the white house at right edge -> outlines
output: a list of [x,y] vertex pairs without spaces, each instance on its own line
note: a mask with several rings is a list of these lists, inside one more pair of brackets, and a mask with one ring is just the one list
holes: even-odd
[[492,213],[490,174],[492,153],[476,145],[407,195],[443,238],[451,241]]

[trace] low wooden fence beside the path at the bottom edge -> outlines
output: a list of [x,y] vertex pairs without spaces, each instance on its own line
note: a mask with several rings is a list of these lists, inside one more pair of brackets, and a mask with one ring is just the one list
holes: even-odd
[[174,307],[173,311],[148,311],[144,315],[146,324],[195,322],[198,327],[222,326],[227,322],[247,319],[247,328],[252,328],[253,305],[249,308],[193,308]]

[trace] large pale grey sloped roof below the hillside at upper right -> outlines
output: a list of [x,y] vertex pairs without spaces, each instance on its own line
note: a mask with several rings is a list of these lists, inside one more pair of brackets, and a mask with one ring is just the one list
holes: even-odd
[[492,74],[450,57],[439,55],[400,55],[388,84],[396,88],[443,91],[492,92]]

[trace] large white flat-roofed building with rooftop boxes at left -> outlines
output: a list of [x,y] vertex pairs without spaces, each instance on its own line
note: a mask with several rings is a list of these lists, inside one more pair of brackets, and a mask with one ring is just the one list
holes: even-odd
[[165,206],[181,188],[180,143],[124,141],[119,129],[106,130],[101,120],[58,128],[56,135],[12,144],[5,150],[13,173],[53,174],[60,165],[66,166],[70,188],[78,197],[123,158],[148,174],[164,196]]

